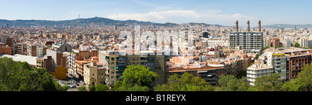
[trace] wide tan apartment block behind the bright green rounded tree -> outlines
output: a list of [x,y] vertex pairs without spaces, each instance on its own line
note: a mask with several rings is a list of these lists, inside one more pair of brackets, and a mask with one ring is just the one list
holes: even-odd
[[[158,73],[160,79],[155,79],[153,85],[165,84],[165,70],[166,70],[166,55],[157,55],[154,51],[140,51],[140,55],[123,55],[125,51],[101,51],[100,59],[104,59],[109,70],[107,70],[106,83],[113,86],[121,79],[123,71],[128,65],[138,64],[150,68],[151,71]],[[148,55],[148,53],[155,53],[155,55]],[[100,61],[101,62],[101,61]]]

